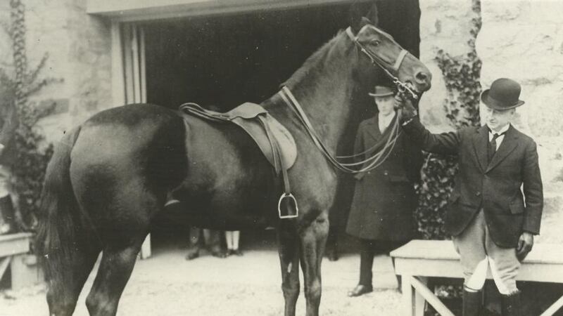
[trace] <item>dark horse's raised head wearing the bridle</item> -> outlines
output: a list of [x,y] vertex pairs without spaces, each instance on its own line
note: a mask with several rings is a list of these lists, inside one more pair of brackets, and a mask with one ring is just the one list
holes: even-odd
[[428,91],[431,86],[432,74],[414,55],[403,49],[391,35],[375,27],[377,13],[372,20],[358,18],[350,20],[346,30],[350,39],[365,55],[392,77],[399,89],[408,88],[415,93]]

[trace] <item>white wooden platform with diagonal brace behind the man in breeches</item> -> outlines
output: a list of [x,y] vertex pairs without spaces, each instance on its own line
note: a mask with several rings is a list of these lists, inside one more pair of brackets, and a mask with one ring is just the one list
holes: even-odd
[[[460,256],[448,240],[412,240],[391,252],[396,274],[402,276],[403,315],[423,315],[431,304],[441,315],[453,313],[426,287],[429,277],[462,278]],[[491,272],[488,272],[492,279]],[[563,244],[535,244],[521,265],[518,280],[563,283]],[[414,290],[414,291],[413,291]],[[541,316],[553,315],[563,306],[559,298]]]

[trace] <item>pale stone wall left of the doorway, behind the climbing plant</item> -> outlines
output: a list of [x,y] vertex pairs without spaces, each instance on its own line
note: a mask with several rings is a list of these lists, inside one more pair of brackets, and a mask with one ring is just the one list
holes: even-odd
[[[85,0],[27,0],[25,25],[29,69],[49,55],[39,79],[59,81],[30,97],[39,106],[56,103],[40,126],[49,141],[61,138],[94,112],[110,107],[110,24],[86,14]],[[0,1],[0,21],[10,22],[9,1]],[[4,32],[5,33],[5,32]],[[11,68],[11,42],[0,35],[0,67]]]

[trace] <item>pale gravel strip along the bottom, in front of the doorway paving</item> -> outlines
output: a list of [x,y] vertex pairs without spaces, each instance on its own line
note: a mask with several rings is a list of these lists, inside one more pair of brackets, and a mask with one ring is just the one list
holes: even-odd
[[[347,298],[346,289],[324,287],[321,315],[398,316],[400,295],[395,290],[374,291]],[[46,315],[44,288],[2,293],[0,315]],[[82,301],[83,302],[83,301]],[[298,301],[297,315],[305,314]],[[118,315],[283,315],[283,298],[277,286],[213,283],[132,283],[120,301]],[[75,315],[88,315],[84,305]]]

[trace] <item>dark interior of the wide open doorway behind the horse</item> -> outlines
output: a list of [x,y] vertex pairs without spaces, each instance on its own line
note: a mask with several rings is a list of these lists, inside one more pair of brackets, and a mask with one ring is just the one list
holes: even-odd
[[[419,54],[419,6],[416,0],[377,1],[379,26],[413,54]],[[348,27],[350,4],[194,16],[137,23],[142,29],[143,93],[148,103],[176,109],[193,102],[227,111],[244,102],[260,103],[279,90],[322,44]],[[366,98],[369,103],[370,99]],[[372,107],[357,113],[338,151],[348,154],[358,123]],[[331,223],[346,222],[353,183],[339,190]],[[189,227],[160,221],[153,244],[175,239],[186,243]],[[242,232],[243,248],[274,242],[274,232]]]

